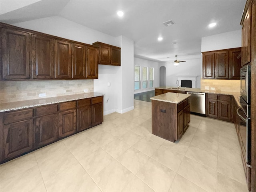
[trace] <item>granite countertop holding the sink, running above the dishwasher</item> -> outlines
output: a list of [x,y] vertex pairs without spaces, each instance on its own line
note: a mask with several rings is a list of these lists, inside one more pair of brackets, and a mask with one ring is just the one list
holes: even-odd
[[[172,88],[172,89],[170,89]],[[189,91],[189,92],[198,92],[198,93],[210,93],[210,94],[223,94],[223,95],[232,95],[234,96],[234,99],[236,100],[236,103],[238,106],[240,106],[239,102],[239,97],[240,97],[240,92],[227,92],[227,91],[220,91],[220,90],[202,90],[199,88],[181,88],[177,89],[176,87],[170,87],[170,86],[160,86],[156,87],[155,89],[166,89],[166,90],[184,90],[184,91]]]

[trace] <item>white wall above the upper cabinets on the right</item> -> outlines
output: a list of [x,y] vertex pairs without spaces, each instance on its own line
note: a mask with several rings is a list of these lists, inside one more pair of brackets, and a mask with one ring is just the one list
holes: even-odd
[[[242,46],[242,30],[235,30],[217,35],[202,37],[201,52],[221,49],[237,48]],[[201,54],[201,76],[202,76],[202,54]]]

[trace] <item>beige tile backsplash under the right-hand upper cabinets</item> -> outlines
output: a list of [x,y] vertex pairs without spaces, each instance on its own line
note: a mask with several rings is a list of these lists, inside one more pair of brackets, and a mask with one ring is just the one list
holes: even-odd
[[240,80],[201,79],[202,90],[240,92]]

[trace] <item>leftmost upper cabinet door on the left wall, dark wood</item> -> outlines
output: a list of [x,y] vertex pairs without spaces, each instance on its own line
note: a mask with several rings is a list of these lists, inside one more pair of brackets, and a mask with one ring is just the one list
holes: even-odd
[[30,38],[26,32],[1,28],[1,78],[29,79]]

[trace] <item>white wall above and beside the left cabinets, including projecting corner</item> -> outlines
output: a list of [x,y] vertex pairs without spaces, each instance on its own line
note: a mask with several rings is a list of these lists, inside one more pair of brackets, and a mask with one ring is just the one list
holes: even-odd
[[[121,47],[121,67],[99,65],[98,79],[94,80],[94,92],[104,94],[104,115],[115,112],[117,109],[118,112],[133,109],[133,90],[130,90],[130,87],[133,87],[133,81],[131,82],[129,78],[127,80],[122,79],[127,78],[128,75],[133,77],[132,40],[122,36],[113,37],[58,16],[13,25],[87,44],[99,41]],[[124,70],[128,72],[127,76],[124,75]],[[110,82],[110,86],[108,86],[108,82]]]

